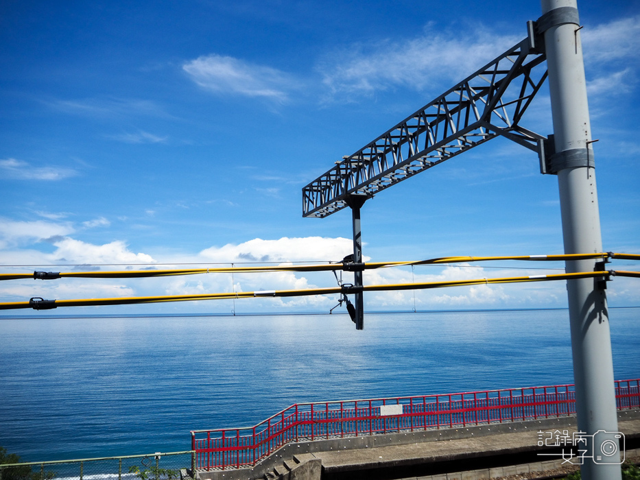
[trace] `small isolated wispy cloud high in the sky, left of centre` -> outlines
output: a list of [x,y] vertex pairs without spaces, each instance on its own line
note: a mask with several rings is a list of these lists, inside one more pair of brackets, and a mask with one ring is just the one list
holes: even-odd
[[215,53],[191,60],[182,69],[195,83],[221,95],[284,101],[296,88],[296,81],[283,71]]

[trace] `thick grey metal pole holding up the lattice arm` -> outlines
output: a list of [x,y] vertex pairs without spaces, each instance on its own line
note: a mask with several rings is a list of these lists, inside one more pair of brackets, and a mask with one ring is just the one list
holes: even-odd
[[[602,252],[577,3],[542,0],[542,11],[538,31],[545,36],[556,148],[552,164],[558,173],[565,253]],[[566,263],[567,273],[594,269],[593,260]],[[589,278],[567,281],[578,429],[593,435],[585,454],[592,458],[581,466],[585,480],[621,479],[619,451],[608,455],[609,441],[620,446],[613,434],[618,427],[603,284]]]

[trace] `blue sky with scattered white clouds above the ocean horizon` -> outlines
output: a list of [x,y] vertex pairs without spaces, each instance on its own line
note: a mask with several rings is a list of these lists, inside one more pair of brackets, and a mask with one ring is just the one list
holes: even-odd
[[[600,139],[604,250],[638,253],[640,3],[578,7],[592,132]],[[1,270],[338,261],[351,252],[351,215],[303,218],[305,184],[524,38],[526,21],[540,14],[537,1],[3,1]],[[547,86],[521,123],[552,133]],[[362,231],[372,261],[562,253],[557,180],[539,173],[533,152],[495,139],[379,193],[362,209]],[[368,272],[365,282],[562,269],[477,265],[387,269]],[[285,273],[28,280],[3,282],[0,298],[333,285],[331,274]],[[613,306],[637,305],[639,294],[635,280],[618,278],[608,289]],[[336,300],[55,313],[328,311]],[[566,293],[562,283],[535,283],[366,296],[371,310],[414,302],[418,309],[564,307]]]

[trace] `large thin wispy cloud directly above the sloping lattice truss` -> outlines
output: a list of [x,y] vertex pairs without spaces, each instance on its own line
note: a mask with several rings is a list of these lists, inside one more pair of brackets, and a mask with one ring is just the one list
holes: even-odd
[[318,65],[324,84],[333,94],[372,94],[399,86],[423,91],[434,82],[459,82],[522,38],[476,30],[425,32],[407,40],[377,45],[349,45]]

